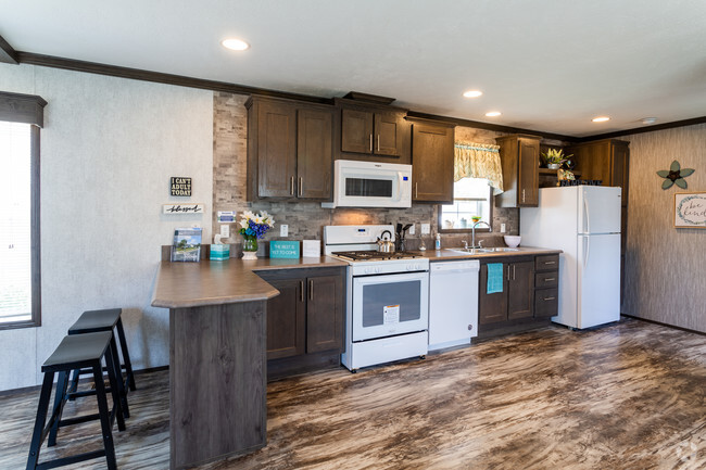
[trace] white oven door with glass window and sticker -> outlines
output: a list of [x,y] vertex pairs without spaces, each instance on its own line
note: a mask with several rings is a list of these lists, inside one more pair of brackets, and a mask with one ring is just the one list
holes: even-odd
[[429,327],[429,272],[353,278],[353,341]]

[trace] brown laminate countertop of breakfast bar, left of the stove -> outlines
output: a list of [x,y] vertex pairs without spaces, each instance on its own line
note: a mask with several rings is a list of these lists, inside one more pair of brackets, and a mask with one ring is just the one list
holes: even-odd
[[239,302],[266,301],[279,294],[255,274],[265,269],[342,267],[346,263],[328,256],[299,259],[259,258],[243,261],[160,264],[153,307],[184,308]]

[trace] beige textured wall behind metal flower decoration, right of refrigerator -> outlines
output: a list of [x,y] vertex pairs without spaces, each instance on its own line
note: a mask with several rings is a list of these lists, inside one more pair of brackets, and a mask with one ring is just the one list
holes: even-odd
[[[706,192],[706,124],[646,132],[630,141],[626,297],[628,315],[706,332],[706,229],[676,229],[675,193]],[[673,160],[695,168],[661,189]]]

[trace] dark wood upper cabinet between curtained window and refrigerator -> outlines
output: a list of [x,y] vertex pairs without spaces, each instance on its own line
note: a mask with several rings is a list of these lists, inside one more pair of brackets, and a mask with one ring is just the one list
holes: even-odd
[[537,207],[539,204],[539,136],[513,135],[495,139],[500,145],[504,192],[499,207]]

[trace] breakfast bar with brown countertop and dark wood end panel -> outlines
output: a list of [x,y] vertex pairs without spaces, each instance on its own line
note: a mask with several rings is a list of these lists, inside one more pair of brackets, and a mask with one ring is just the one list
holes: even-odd
[[152,306],[169,308],[169,467],[266,445],[266,305],[255,271],[336,267],[329,257],[162,262]]

